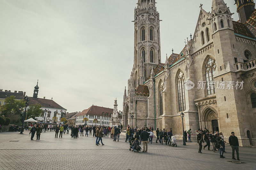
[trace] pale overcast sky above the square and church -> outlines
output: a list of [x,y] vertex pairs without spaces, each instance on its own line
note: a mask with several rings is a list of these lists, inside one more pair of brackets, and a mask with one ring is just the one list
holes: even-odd
[[[0,89],[56,101],[68,112],[92,104],[122,110],[133,65],[137,0],[0,0]],[[194,33],[200,4],[157,0],[162,62]],[[238,20],[234,0],[225,0]]]

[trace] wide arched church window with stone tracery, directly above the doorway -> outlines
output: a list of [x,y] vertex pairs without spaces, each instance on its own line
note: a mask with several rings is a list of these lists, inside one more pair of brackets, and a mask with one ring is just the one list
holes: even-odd
[[208,57],[205,62],[205,69],[204,69],[208,95],[215,93],[214,78],[213,78],[215,69],[216,69],[215,60],[212,57]]

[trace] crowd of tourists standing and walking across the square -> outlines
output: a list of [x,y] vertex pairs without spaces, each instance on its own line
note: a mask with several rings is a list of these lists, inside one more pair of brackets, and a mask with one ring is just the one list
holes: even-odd
[[[15,126],[14,126],[15,127]],[[70,137],[76,139],[79,137],[88,137],[88,135],[92,135],[93,137],[96,137],[96,145],[98,146],[101,142],[102,145],[102,138],[103,137],[110,137],[113,139],[114,142],[119,142],[119,137],[122,131],[122,125],[110,127],[110,126],[89,126],[89,125],[67,125],[67,124],[27,124],[26,129],[28,127],[32,127],[30,129],[31,132],[31,140],[33,140],[34,135],[36,134],[36,140],[40,140],[40,134],[44,131],[55,131],[55,138],[62,138],[63,134],[69,134],[69,130],[71,131]],[[134,140],[132,140],[132,146],[138,146],[141,142],[143,143],[143,151],[148,151],[148,143],[153,144],[153,137],[155,137],[153,133],[154,128],[153,127],[146,127],[146,128],[133,128],[128,125],[125,135],[126,139],[125,142],[130,143],[131,139],[134,137]],[[85,132],[85,133],[84,133]],[[222,132],[209,131],[208,129],[198,129],[197,130],[197,143],[199,144],[199,150],[198,153],[202,153],[202,148],[208,148],[209,151],[215,152],[218,149],[218,152],[220,153],[220,158],[225,158],[223,154],[225,151],[225,143],[224,136]],[[166,145],[171,143],[171,137],[172,137],[172,128],[168,129],[156,129],[156,143]],[[183,136],[185,137],[186,142],[192,142],[191,141],[191,129],[188,131],[185,130],[183,133]],[[204,146],[202,143],[206,143]],[[210,149],[210,143],[212,143],[212,149]],[[231,136],[229,137],[229,144],[232,148],[232,159],[235,159],[235,151],[237,160],[239,160],[239,144],[238,139],[235,136],[235,133],[232,132]]]

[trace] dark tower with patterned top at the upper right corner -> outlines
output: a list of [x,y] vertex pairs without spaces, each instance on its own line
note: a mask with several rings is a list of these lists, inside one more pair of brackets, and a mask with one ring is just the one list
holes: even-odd
[[237,13],[239,15],[239,19],[241,23],[245,23],[250,16],[252,15],[252,11],[255,9],[255,3],[253,0],[235,0]]

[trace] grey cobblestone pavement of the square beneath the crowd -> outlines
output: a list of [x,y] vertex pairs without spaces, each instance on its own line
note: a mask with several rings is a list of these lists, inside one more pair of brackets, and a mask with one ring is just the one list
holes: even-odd
[[[0,133],[0,169],[1,170],[52,170],[52,169],[255,169],[256,149],[239,147],[240,160],[245,164],[231,161],[231,148],[226,146],[225,159],[219,153],[203,150],[198,153],[198,145],[188,144],[177,147],[148,144],[148,153],[129,151],[129,143],[113,142],[110,137],[103,138],[104,146],[95,145],[95,137],[73,139],[70,134],[63,138],[54,138],[55,132],[41,134],[41,139],[31,141],[28,131]],[[156,140],[156,139],[155,139]],[[10,142],[18,141],[18,142]],[[143,148],[143,146],[141,145]],[[212,148],[212,146],[211,146]],[[215,168],[214,168],[215,169]],[[217,167],[216,167],[217,169]]]

